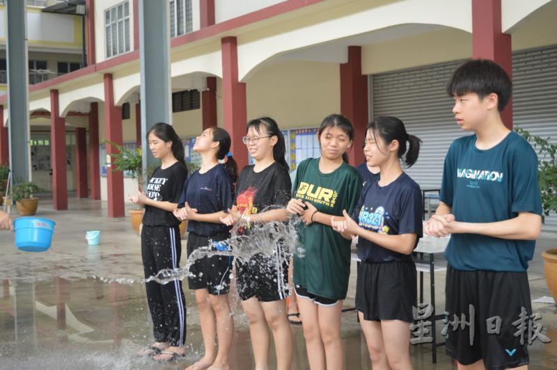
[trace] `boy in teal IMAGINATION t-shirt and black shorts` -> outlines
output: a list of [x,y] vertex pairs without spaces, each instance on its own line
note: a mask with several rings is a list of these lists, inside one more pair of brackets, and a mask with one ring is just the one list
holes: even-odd
[[542,225],[538,157],[501,120],[512,83],[500,65],[464,63],[447,92],[457,124],[474,134],[450,145],[441,202],[424,227],[450,234],[446,353],[459,369],[526,369],[527,322],[515,334],[522,310],[532,314],[526,269]]

